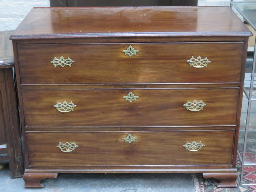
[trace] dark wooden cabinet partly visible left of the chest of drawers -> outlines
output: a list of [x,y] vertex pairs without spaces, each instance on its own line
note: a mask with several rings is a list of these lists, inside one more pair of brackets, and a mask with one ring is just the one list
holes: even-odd
[[12,31],[0,32],[0,163],[9,163],[11,178],[24,173],[20,146],[20,129],[12,68],[14,58],[11,41]]

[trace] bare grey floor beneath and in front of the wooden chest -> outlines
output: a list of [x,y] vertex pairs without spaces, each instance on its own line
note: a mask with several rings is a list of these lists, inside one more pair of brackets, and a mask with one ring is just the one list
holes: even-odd
[[191,174],[59,174],[41,182],[45,188],[25,189],[22,178],[0,171],[0,192],[195,192]]

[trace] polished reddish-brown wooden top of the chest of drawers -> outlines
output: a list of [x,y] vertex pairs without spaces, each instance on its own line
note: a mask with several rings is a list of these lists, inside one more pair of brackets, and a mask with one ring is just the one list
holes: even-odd
[[11,39],[250,36],[230,7],[33,8]]

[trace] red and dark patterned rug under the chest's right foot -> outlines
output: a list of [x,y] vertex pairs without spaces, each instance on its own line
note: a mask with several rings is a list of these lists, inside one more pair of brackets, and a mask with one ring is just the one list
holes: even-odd
[[[246,150],[246,156],[255,158],[255,152]],[[237,158],[237,172],[241,173],[241,162]],[[203,178],[202,174],[192,174],[195,185],[195,192],[256,192],[256,186],[239,186],[236,188],[217,188],[218,180]],[[256,166],[246,166],[244,168],[244,182],[256,183]]]

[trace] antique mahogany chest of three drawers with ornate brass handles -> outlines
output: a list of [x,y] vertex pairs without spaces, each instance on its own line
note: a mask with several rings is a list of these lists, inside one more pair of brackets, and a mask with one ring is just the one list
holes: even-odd
[[11,36],[25,187],[174,172],[234,187],[250,35],[229,7],[33,8]]

